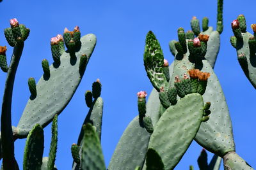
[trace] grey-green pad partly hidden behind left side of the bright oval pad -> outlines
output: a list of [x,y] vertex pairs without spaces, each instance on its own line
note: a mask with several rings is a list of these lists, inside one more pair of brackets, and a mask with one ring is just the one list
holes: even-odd
[[[158,98],[158,96],[157,96]],[[139,117],[135,117],[120,138],[109,162],[109,170],[134,170],[143,166],[147,153],[150,134],[140,126]]]

